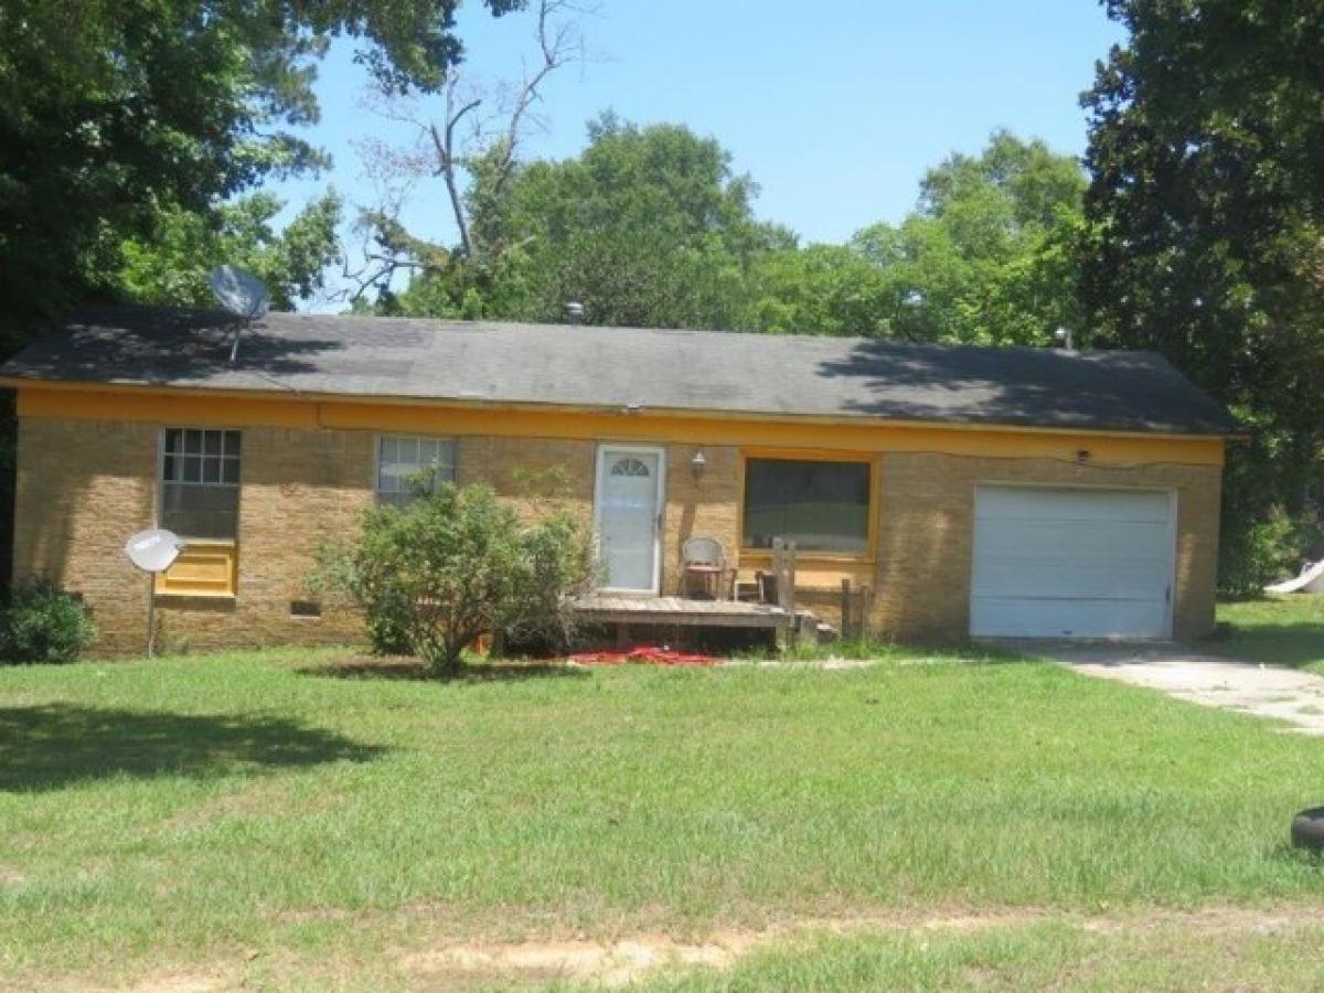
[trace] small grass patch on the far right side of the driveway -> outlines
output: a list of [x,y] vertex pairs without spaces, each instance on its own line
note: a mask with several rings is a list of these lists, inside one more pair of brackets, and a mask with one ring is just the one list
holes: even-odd
[[1288,594],[1218,605],[1231,626],[1209,642],[1217,654],[1324,675],[1324,596]]

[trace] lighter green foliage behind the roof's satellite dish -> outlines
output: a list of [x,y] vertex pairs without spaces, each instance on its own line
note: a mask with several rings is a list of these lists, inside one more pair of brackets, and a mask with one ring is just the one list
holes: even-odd
[[143,303],[207,307],[211,270],[230,262],[266,283],[271,306],[293,310],[323,286],[326,267],[339,257],[340,199],[328,192],[277,233],[271,222],[283,207],[270,193],[253,193],[221,205],[218,228],[199,213],[166,211],[148,237],[120,245],[118,285]]

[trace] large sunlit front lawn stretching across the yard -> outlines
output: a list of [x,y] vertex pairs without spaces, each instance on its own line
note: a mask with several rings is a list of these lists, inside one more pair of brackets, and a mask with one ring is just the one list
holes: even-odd
[[1050,663],[335,661],[0,670],[0,988],[212,963],[384,988],[441,937],[1324,895],[1286,846],[1324,741]]

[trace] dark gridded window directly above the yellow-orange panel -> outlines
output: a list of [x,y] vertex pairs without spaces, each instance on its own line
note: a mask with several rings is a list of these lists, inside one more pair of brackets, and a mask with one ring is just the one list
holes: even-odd
[[162,527],[180,538],[234,540],[240,523],[240,432],[167,428]]

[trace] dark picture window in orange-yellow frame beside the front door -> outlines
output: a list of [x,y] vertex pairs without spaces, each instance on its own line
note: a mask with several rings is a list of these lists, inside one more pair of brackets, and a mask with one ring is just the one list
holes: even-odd
[[744,547],[771,548],[785,538],[800,551],[863,555],[870,475],[869,462],[748,459]]

